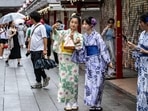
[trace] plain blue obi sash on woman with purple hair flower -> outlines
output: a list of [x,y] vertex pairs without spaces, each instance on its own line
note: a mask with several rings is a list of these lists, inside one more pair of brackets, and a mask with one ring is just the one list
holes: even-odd
[[85,46],[85,48],[86,48],[87,56],[99,54],[99,49],[97,45]]

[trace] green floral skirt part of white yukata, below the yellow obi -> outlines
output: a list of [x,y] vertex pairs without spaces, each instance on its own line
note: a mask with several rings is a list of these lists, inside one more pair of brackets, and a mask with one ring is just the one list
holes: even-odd
[[59,54],[59,102],[77,101],[79,67],[71,62],[70,55]]

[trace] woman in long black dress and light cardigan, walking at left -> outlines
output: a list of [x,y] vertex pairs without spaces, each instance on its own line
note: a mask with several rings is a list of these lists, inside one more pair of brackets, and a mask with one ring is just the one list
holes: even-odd
[[9,30],[8,30],[8,38],[9,38],[9,48],[10,48],[10,55],[8,56],[6,60],[6,65],[9,66],[9,59],[17,59],[18,60],[18,67],[22,66],[20,65],[20,59],[21,59],[21,50],[20,45],[18,41],[18,32],[15,27],[14,22],[9,23]]

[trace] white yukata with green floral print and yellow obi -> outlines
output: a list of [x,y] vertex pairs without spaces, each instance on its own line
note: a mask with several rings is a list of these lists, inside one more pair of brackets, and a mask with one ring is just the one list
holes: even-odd
[[[71,61],[71,56],[74,50],[64,49],[64,41],[69,38],[71,30],[55,30],[52,39],[54,40],[53,51],[58,53],[59,57],[59,89],[58,89],[58,102],[68,103],[77,102],[78,98],[78,76],[79,65]],[[74,32],[73,41],[80,39],[79,45],[82,45],[82,35],[77,31]]]

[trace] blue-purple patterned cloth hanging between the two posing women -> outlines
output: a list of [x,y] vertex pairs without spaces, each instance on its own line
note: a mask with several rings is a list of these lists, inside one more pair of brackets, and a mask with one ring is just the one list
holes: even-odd
[[86,61],[86,56],[85,56],[85,49],[81,48],[79,50],[75,50],[71,56],[71,61],[74,63],[82,64],[85,63]]

